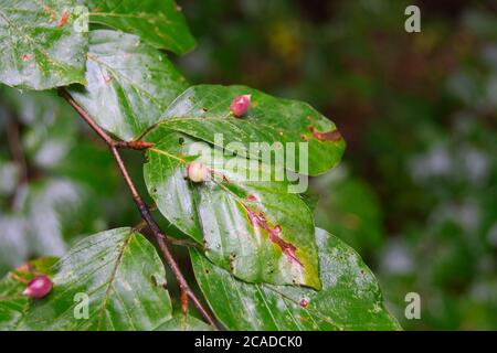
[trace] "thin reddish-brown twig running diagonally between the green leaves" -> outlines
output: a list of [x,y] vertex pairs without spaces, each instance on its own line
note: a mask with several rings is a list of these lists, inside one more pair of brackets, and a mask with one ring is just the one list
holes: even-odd
[[189,298],[195,308],[200,311],[202,317],[214,328],[218,328],[215,321],[211,318],[211,315],[208,313],[208,311],[203,308],[200,300],[197,298],[197,296],[191,290],[190,286],[188,285],[187,280],[184,279],[183,274],[181,272],[175,257],[172,256],[171,252],[169,250],[168,245],[166,244],[167,237],[161,231],[157,222],[154,220],[150,210],[148,208],[147,204],[141,199],[140,194],[138,193],[138,190],[135,186],[135,183],[133,182],[131,178],[129,176],[128,170],[123,161],[123,158],[119,153],[119,148],[133,148],[131,145],[135,147],[140,148],[133,148],[133,149],[146,149],[152,145],[147,145],[148,142],[141,142],[141,141],[135,141],[135,142],[121,142],[116,141],[113,139],[107,132],[105,132],[98,124],[95,122],[95,120],[73,99],[73,97],[65,90],[64,88],[61,88],[59,90],[59,95],[63,97],[67,103],[76,109],[76,111],[81,115],[81,117],[89,125],[89,127],[95,130],[95,132],[107,143],[109,147],[114,159],[117,162],[117,165],[119,168],[119,171],[123,175],[123,179],[125,180],[129,192],[131,193],[133,200],[135,201],[138,211],[141,214],[141,218],[147,223],[148,227],[152,232],[156,242],[159,245],[160,250],[162,252],[162,255],[166,259],[166,263],[168,264],[169,268],[171,269],[172,274],[175,275],[176,279],[178,280],[179,287],[181,292],[183,292],[187,298]]

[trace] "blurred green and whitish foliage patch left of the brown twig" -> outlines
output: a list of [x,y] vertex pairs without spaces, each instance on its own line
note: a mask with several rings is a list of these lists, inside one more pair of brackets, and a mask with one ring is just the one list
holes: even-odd
[[0,105],[0,274],[124,221],[114,161],[68,105],[8,88]]

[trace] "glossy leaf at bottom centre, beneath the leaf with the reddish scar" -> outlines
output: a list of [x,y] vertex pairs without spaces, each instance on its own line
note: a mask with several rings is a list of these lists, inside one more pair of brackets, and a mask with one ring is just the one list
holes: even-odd
[[195,277],[218,319],[230,330],[399,330],[359,255],[322,229],[316,238],[320,291],[246,284],[191,250]]

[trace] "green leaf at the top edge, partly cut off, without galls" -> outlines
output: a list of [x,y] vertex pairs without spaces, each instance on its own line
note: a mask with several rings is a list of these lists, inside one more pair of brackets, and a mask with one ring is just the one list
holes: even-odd
[[139,35],[145,42],[177,54],[195,41],[181,8],[172,0],[89,0],[89,20]]

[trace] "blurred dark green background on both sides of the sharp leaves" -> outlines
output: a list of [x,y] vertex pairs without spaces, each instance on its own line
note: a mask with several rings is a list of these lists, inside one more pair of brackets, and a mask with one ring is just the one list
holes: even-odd
[[[316,223],[363,256],[403,328],[497,330],[497,1],[178,2],[198,46],[173,61],[191,83],[305,100],[338,125],[348,147],[313,180]],[[421,33],[404,31],[409,4]],[[54,94],[2,88],[0,133],[0,272],[139,222]]]

